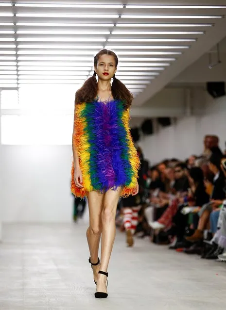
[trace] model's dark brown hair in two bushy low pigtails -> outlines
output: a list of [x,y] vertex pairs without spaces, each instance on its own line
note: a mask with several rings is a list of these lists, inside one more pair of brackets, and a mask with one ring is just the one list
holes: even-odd
[[[100,56],[107,54],[111,55],[115,59],[115,65],[117,67],[119,60],[117,55],[108,49],[102,49],[94,57],[94,66],[97,66]],[[97,97],[97,80],[96,73],[94,72],[93,76],[90,77],[83,86],[77,90],[75,94],[75,103],[80,104],[82,102],[92,102]],[[122,100],[125,110],[131,105],[133,100],[133,94],[126,88],[126,86],[118,79],[115,75],[113,77],[113,82],[111,85],[111,93],[114,99]]]

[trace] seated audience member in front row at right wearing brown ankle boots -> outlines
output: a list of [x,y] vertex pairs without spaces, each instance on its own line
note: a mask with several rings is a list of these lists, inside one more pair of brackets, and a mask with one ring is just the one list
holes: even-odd
[[209,169],[214,174],[213,191],[211,194],[211,204],[204,205],[199,212],[200,218],[198,227],[195,232],[186,237],[189,241],[197,241],[203,238],[203,232],[208,227],[210,213],[216,210],[225,199],[225,176],[221,169],[221,158],[218,155],[212,154],[209,158]]

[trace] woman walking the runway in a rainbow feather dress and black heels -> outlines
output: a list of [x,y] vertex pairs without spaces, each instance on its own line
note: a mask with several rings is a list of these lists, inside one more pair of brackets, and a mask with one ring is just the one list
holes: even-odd
[[115,240],[119,198],[139,191],[140,161],[129,129],[133,95],[116,79],[117,65],[118,57],[113,51],[99,51],[94,57],[93,76],[75,95],[71,192],[76,197],[87,196],[88,200],[87,242],[96,298],[108,295],[107,268]]

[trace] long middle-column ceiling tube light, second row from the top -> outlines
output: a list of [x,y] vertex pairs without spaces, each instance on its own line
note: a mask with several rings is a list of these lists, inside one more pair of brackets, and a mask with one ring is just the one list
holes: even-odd
[[[1,15],[0,15],[1,16]],[[12,16],[12,15],[10,15]],[[66,17],[66,18],[118,18],[118,14],[42,14],[42,13],[17,13],[17,17]]]

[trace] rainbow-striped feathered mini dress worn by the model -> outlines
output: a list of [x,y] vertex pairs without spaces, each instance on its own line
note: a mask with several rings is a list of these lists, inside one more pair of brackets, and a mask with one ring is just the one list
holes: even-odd
[[90,191],[106,192],[122,186],[120,197],[136,190],[140,160],[129,128],[129,109],[120,100],[83,102],[75,106],[73,143],[82,171],[83,188],[74,182],[71,192],[85,197]]

